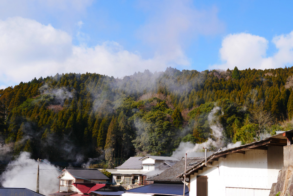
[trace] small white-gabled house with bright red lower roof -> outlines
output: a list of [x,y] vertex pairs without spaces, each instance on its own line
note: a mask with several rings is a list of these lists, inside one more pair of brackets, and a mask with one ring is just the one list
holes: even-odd
[[106,186],[106,181],[109,178],[98,169],[65,168],[62,172],[58,177],[59,191],[50,195],[88,194],[96,190],[106,191],[109,189]]

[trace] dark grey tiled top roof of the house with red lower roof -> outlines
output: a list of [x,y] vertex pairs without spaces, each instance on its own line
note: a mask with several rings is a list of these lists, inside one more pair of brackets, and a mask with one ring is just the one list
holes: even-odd
[[109,178],[98,169],[67,167],[65,170],[76,179],[109,180]]

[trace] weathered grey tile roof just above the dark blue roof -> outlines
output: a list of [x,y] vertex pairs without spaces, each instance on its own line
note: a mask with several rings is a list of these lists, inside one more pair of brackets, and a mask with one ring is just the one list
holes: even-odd
[[[187,158],[186,160],[186,166],[190,167],[194,164],[200,163],[201,160],[205,159],[204,157],[193,157],[193,158]],[[184,173],[184,167],[185,167],[185,158],[183,160],[178,161],[173,165],[172,167],[169,167],[162,173],[156,176],[149,176],[147,180],[151,181],[158,181],[158,182],[179,182],[183,181],[182,178],[176,177],[182,173]],[[187,168],[186,168],[187,169]],[[186,179],[188,180],[188,179]]]

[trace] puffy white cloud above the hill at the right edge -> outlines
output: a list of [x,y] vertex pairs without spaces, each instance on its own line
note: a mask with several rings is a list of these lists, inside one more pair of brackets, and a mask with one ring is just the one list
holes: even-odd
[[293,63],[293,31],[291,33],[275,36],[272,43],[277,52],[267,57],[268,41],[264,37],[249,33],[237,33],[226,36],[219,51],[222,64],[210,66],[210,69],[238,69],[279,68]]

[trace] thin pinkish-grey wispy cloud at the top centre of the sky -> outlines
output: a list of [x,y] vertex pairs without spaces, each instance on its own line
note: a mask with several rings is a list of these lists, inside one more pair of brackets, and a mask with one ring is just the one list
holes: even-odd
[[224,29],[217,9],[197,10],[191,1],[143,1],[141,7],[150,17],[137,36],[150,46],[156,55],[171,60],[174,65],[189,66],[185,54],[197,35],[213,35]]

